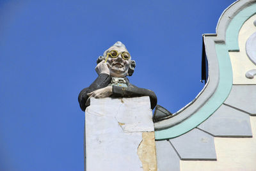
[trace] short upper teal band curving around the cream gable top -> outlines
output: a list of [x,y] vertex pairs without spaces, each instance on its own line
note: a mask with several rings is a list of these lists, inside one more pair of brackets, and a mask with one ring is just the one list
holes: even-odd
[[238,45],[238,34],[243,26],[244,22],[248,20],[252,15],[256,13],[256,4],[252,4],[248,6],[244,10],[237,13],[236,17],[230,22],[227,34],[226,34],[226,43],[228,50],[239,50]]

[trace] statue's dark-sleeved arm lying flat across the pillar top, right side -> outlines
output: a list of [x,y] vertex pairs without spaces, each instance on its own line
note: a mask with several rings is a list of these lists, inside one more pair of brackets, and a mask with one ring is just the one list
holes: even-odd
[[132,84],[130,84],[129,87],[113,86],[113,97],[134,98],[141,96],[149,96],[151,108],[153,109],[154,107],[156,107],[156,94],[149,89],[139,88]]

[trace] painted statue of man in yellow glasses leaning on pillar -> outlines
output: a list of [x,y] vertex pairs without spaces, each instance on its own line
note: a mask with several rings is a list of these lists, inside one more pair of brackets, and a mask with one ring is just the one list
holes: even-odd
[[108,48],[97,59],[95,70],[98,73],[97,79],[84,88],[78,96],[81,110],[85,110],[90,105],[90,98],[133,98],[149,96],[151,108],[156,107],[157,97],[153,91],[132,85],[127,76],[131,76],[136,66],[131,60],[131,55],[125,45],[117,41],[115,45]]

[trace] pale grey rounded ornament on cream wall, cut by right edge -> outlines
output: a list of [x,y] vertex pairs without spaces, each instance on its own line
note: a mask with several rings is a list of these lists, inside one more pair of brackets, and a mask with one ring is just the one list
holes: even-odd
[[245,48],[247,56],[256,64],[256,32],[248,38]]

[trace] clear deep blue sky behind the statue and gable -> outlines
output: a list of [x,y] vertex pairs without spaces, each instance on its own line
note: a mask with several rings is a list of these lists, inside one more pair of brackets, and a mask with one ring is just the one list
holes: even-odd
[[132,84],[176,112],[204,87],[202,34],[234,0],[0,1],[0,170],[83,170],[77,96],[122,41]]

